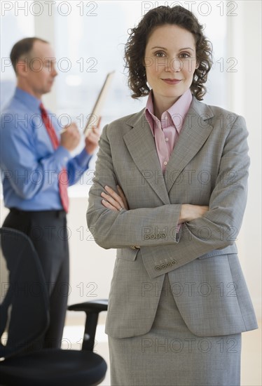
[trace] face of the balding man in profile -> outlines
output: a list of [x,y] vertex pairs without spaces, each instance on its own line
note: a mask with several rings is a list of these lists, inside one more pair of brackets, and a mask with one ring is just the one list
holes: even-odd
[[[21,74],[27,92],[36,98],[49,93],[53,86],[57,71],[55,69],[55,53],[50,44],[35,41],[32,52],[25,59],[26,66]],[[19,66],[19,64],[18,64]]]

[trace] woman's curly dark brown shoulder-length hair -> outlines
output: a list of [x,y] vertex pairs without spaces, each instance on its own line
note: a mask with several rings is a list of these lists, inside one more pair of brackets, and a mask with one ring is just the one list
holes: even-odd
[[151,9],[139,22],[137,27],[130,31],[125,44],[125,68],[128,69],[128,86],[132,90],[132,98],[149,95],[149,86],[146,84],[146,69],[144,55],[149,35],[155,27],[160,25],[177,25],[187,29],[195,37],[195,52],[198,68],[195,69],[191,84],[191,93],[195,98],[202,100],[207,92],[204,84],[207,74],[212,67],[212,44],[202,32],[202,25],[192,12],[181,6],[158,6]]

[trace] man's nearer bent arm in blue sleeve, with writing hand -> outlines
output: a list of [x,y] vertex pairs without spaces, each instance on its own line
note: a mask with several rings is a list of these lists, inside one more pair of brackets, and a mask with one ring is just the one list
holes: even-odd
[[15,193],[22,199],[32,199],[35,194],[57,185],[62,168],[71,158],[70,151],[79,142],[79,134],[74,124],[62,134],[62,142],[57,149],[39,159],[34,134],[29,128],[18,124],[1,126],[1,169],[8,178]]

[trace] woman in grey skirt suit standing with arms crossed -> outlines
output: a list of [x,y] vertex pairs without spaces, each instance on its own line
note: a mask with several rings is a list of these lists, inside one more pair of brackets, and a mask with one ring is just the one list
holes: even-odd
[[241,333],[257,328],[235,246],[247,128],[200,102],[211,56],[181,6],[152,9],[127,41],[132,96],[149,98],[104,128],[87,214],[117,248],[111,385],[240,385]]

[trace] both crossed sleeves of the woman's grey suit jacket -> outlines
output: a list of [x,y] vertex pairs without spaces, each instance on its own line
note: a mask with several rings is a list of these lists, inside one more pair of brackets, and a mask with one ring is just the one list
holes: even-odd
[[[99,143],[87,213],[88,227],[97,244],[103,248],[139,245],[144,256],[157,255],[158,252],[163,255],[165,246],[167,254],[176,256],[175,268],[214,249],[235,244],[247,202],[249,156],[244,118],[236,116],[227,133],[219,174],[209,199],[209,211],[202,218],[184,223],[176,235],[174,229],[182,203],[121,212],[113,212],[102,206],[100,194],[104,186],[109,185],[116,189],[118,183],[105,127]],[[158,239],[145,239],[146,227],[159,229],[159,232],[165,228],[168,232],[165,238],[161,234]]]

